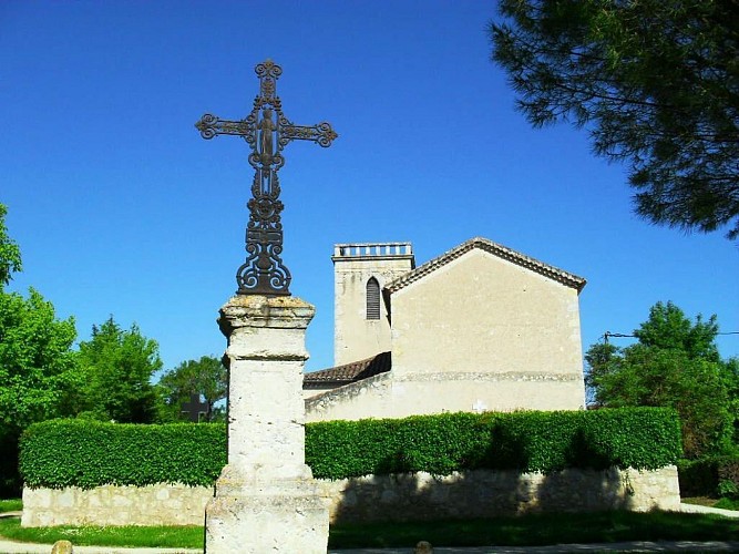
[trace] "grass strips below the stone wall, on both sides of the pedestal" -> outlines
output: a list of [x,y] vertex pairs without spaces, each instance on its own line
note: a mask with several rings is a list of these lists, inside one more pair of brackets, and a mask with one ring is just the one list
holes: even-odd
[[[0,519],[0,535],[14,541],[75,545],[203,548],[203,527],[21,527],[18,517]],[[739,525],[707,514],[599,512],[533,514],[493,520],[424,523],[367,523],[331,526],[331,548],[434,546],[535,546],[618,541],[739,541]]]

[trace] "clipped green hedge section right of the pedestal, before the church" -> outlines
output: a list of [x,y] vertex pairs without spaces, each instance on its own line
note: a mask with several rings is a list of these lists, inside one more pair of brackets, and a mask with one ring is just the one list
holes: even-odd
[[474,469],[657,469],[679,455],[671,410],[453,413],[306,427],[306,462],[326,479]]

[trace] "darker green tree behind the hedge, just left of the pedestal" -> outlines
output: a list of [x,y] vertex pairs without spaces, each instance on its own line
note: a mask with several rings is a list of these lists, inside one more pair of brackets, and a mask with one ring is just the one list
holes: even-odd
[[226,398],[228,375],[220,360],[213,356],[203,356],[199,360],[187,360],[162,376],[158,382],[164,389],[166,402],[177,418],[181,406],[192,394],[202,394],[208,404],[206,420],[213,421],[216,413],[214,404]]

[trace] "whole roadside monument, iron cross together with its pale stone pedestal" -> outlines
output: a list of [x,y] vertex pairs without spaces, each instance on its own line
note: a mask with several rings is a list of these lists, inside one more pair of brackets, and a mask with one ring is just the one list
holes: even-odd
[[196,124],[205,138],[244,137],[255,168],[247,259],[218,319],[228,339],[228,464],[205,509],[208,554],[325,554],[328,546],[328,500],[305,463],[302,367],[315,308],[288,290],[277,171],[291,140],[328,146],[337,134],[328,123],[300,126],[283,115],[275,86],[281,72],[270,60],[256,66],[259,95],[246,119],[206,114]]

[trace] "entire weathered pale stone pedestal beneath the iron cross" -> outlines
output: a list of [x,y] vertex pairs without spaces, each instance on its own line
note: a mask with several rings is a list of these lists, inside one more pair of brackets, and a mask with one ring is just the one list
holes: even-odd
[[328,500],[305,463],[305,332],[315,312],[289,296],[236,296],[220,308],[228,464],[205,509],[208,554],[326,554]]

